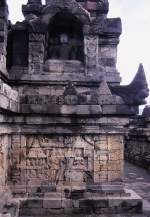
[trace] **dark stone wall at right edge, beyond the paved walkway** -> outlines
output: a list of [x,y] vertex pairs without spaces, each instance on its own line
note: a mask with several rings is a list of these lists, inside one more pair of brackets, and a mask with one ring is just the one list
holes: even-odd
[[141,167],[150,169],[150,107],[130,123],[129,135],[125,140],[125,158]]

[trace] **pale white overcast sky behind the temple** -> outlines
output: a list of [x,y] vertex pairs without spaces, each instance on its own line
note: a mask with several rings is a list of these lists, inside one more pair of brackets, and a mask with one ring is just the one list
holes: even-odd
[[[7,2],[11,21],[22,20],[21,5],[27,0]],[[123,24],[117,63],[122,82],[130,83],[139,63],[143,63],[150,87],[150,0],[109,0],[109,3],[108,16],[121,17]]]

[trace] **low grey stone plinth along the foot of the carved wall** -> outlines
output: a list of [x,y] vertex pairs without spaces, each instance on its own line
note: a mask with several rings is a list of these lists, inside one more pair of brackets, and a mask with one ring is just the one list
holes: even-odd
[[53,216],[75,214],[122,214],[141,213],[142,199],[133,191],[125,190],[123,196],[101,196],[99,193],[85,193],[84,198],[65,198],[60,193],[50,197],[31,197],[20,200],[19,216]]

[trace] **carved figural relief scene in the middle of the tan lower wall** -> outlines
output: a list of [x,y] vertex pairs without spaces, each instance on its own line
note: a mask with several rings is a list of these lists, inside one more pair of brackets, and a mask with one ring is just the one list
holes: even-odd
[[[30,144],[29,141],[32,141]],[[37,137],[27,139],[28,184],[40,185],[43,181],[51,185],[84,182],[87,157],[84,148],[76,147],[75,137]],[[36,182],[36,183],[34,183]]]

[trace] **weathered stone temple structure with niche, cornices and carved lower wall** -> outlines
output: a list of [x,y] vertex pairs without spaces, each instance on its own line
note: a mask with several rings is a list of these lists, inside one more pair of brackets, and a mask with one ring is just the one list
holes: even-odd
[[107,0],[28,0],[24,21],[0,1],[1,213],[141,211],[124,189],[124,135],[145,103],[142,65],[121,86],[120,18]]

